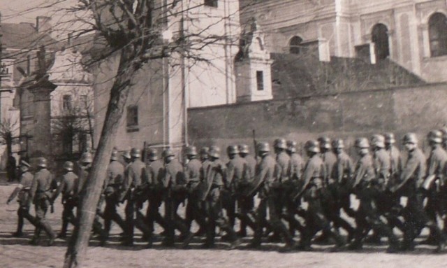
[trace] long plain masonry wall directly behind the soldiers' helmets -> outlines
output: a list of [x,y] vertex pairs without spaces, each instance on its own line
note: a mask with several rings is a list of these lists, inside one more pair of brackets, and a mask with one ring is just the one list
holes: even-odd
[[253,130],[258,141],[270,142],[284,137],[305,143],[325,134],[352,144],[377,132],[395,132],[397,139],[416,132],[423,140],[447,123],[447,84],[190,108],[188,121],[189,143],[196,146],[251,145]]

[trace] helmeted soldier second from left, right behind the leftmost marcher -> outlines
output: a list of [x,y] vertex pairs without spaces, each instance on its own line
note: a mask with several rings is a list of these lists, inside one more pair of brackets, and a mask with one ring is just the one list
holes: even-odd
[[55,188],[57,188],[57,183],[53,174],[47,169],[47,160],[44,157],[39,157],[37,171],[34,174],[28,198],[28,204],[33,202],[36,210],[36,230],[34,231],[33,239],[29,241],[30,244],[38,244],[41,230],[44,230],[50,238],[48,246],[52,246],[54,243],[56,234],[54,234],[50,224],[45,220],[45,215],[48,207],[51,205],[51,192]]

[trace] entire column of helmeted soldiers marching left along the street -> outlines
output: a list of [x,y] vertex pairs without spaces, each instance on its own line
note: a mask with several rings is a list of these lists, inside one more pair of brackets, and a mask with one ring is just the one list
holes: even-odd
[[[307,141],[305,157],[297,153],[295,141],[284,139],[275,140],[273,148],[269,143],[257,143],[256,155],[250,155],[245,144],[231,145],[226,150],[228,163],[223,162],[217,146],[200,151],[188,146],[185,164],[170,148],[163,150],[161,157],[155,148],[149,148],[146,163],[137,148],[122,155],[114,150],[92,232],[104,246],[115,222],[122,229],[122,244],[133,246],[137,227],[151,248],[157,223],[164,230],[159,234],[164,236],[162,246],[174,247],[179,242],[186,248],[193,237],[204,237],[203,248],[213,248],[219,227],[224,234],[221,239],[237,248],[250,228],[254,236],[249,248],[259,248],[263,241],[282,241],[285,246],[280,251],[311,251],[316,241],[332,241],[333,251],[360,250],[365,242],[381,243],[386,237],[387,252],[395,253],[412,251],[415,239],[427,227],[430,235],[420,244],[434,245],[439,253],[447,239],[447,224],[438,222],[447,221],[447,129],[432,130],[427,141],[431,149],[428,157],[418,147],[416,134],[405,134],[404,161],[394,134],[359,138],[354,144],[356,164],[344,150],[342,139],[327,137]],[[13,236],[22,237],[27,219],[35,226],[30,244],[39,243],[42,231],[49,246],[56,238],[64,239],[68,224],[77,224],[74,210],[85,192],[92,160],[91,153],[84,153],[78,171],[73,162],[65,162],[61,178],[54,178],[43,157],[38,159],[35,174],[29,163],[20,162],[20,184],[8,198],[9,204],[17,197],[20,205]],[[59,195],[64,210],[56,235],[45,215]],[[356,209],[351,204],[353,196],[359,203]],[[406,197],[406,202],[401,202],[401,197]],[[117,206],[124,202],[122,217]],[[29,212],[31,204],[35,216]],[[185,204],[183,218],[179,206]],[[237,218],[239,226],[235,225]],[[197,232],[191,230],[193,221]],[[402,232],[402,239],[395,228]],[[341,229],[346,238],[340,235]],[[175,230],[180,233],[178,239]],[[318,232],[321,235],[316,237]]]

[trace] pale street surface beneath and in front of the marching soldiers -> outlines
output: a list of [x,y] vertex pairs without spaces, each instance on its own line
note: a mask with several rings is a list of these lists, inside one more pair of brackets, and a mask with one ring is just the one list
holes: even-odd
[[[6,205],[6,199],[13,190],[12,186],[0,186],[0,267],[61,267],[66,251],[66,241],[58,239],[52,247],[29,246],[27,242],[33,228],[27,223],[27,236],[16,239],[10,236],[15,231],[16,204]],[[33,211],[34,213],[34,211]],[[57,200],[55,213],[49,214],[54,230],[60,228],[61,205]],[[122,214],[124,215],[124,213]],[[85,260],[85,267],[124,268],[124,267],[447,267],[447,253],[432,254],[431,246],[418,246],[413,253],[387,254],[386,246],[367,246],[361,252],[330,253],[327,246],[316,246],[312,253],[278,253],[280,244],[265,244],[260,251],[227,251],[225,243],[219,243],[217,249],[198,248],[200,240],[193,241],[191,249],[163,249],[159,240],[154,249],[145,249],[138,234],[137,245],[133,248],[119,246],[117,234],[121,230],[112,230],[112,241],[105,248],[91,241]],[[246,240],[248,242],[248,240]],[[45,243],[43,239],[42,244]]]

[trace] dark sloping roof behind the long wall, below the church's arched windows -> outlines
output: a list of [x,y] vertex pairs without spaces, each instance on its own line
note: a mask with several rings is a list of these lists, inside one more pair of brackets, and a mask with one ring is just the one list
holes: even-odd
[[370,64],[363,59],[271,53],[274,99],[337,94],[424,84],[421,78],[385,59]]

